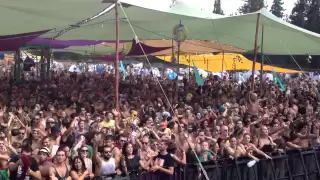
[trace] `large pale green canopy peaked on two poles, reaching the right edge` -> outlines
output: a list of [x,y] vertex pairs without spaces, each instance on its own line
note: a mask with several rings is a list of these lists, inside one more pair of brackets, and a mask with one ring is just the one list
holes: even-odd
[[[127,2],[129,0],[122,0]],[[196,13],[187,6],[169,9],[150,9],[131,4],[124,8],[139,39],[170,39],[172,29],[181,23],[188,29],[188,39],[210,40],[233,45],[247,51],[254,49],[257,16],[260,14],[259,41],[261,46],[262,26],[264,27],[265,54],[302,55],[320,54],[320,35],[296,27],[272,15],[266,9],[240,16],[208,16],[208,13]],[[115,39],[115,15],[110,11],[104,17],[97,18],[80,28],[71,30],[57,39]],[[121,8],[120,39],[135,38]]]

